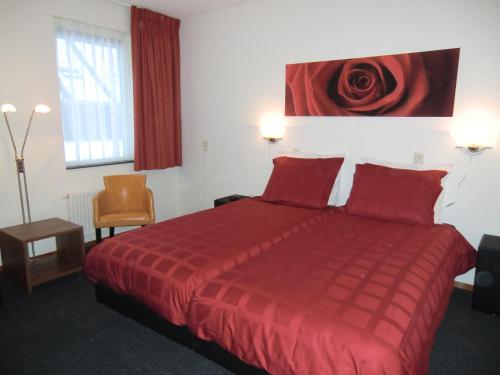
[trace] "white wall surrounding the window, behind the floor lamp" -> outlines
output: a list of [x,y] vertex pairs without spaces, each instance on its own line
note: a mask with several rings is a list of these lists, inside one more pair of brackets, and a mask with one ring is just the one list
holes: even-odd
[[[33,122],[25,150],[26,173],[34,220],[66,217],[66,193],[102,188],[102,176],[133,172],[132,164],[66,170],[52,17],[71,18],[103,27],[130,31],[130,9],[108,0],[1,0],[0,104],[12,103],[10,116],[18,144],[32,108],[52,108]],[[19,146],[18,146],[19,147]],[[177,169],[147,172],[155,195],[158,219],[178,214]],[[0,119],[0,227],[22,222],[14,156],[3,118]],[[39,243],[40,253],[53,250]]]

